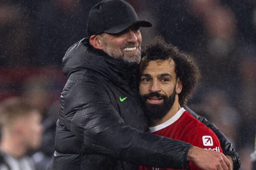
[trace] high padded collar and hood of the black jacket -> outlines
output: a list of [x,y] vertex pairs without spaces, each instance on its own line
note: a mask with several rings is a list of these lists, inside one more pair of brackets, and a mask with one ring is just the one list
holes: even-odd
[[84,69],[90,69],[102,74],[116,85],[130,85],[137,88],[138,64],[113,59],[102,50],[93,48],[88,38],[84,38],[72,45],[66,52],[62,71],[69,77],[70,74]]

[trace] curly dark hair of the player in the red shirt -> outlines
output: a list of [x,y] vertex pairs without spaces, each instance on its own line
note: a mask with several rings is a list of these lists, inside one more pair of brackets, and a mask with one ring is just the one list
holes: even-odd
[[152,60],[169,60],[175,62],[175,73],[180,78],[183,88],[179,94],[179,103],[181,106],[186,105],[188,99],[192,96],[198,85],[198,79],[201,77],[198,66],[194,59],[189,55],[181,53],[177,47],[168,44],[163,37],[156,37],[146,42],[142,51],[142,60],[140,62],[140,74]]

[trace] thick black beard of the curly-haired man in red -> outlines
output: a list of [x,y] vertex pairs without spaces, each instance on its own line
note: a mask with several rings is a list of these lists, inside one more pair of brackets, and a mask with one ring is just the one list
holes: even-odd
[[[175,88],[174,88],[175,89]],[[147,102],[149,97],[162,97],[163,103],[161,104],[150,104]],[[171,110],[175,102],[175,90],[171,96],[166,96],[157,92],[140,95],[142,102],[142,108],[146,118],[148,119],[149,125],[154,125],[154,122],[162,119]]]

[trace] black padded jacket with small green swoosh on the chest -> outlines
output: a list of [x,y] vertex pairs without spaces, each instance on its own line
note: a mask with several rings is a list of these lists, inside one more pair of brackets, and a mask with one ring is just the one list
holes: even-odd
[[62,63],[68,80],[61,93],[53,170],[188,166],[192,145],[145,133],[148,125],[137,93],[137,69],[136,63],[92,48],[88,39],[68,49]]

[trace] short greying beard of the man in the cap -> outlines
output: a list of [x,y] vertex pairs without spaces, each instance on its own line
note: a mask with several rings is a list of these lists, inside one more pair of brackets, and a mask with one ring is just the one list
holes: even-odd
[[124,54],[124,52],[121,49],[113,48],[109,45],[108,41],[103,37],[103,43],[105,45],[105,53],[107,53],[109,56],[113,57],[114,59],[120,59],[125,62],[137,62],[140,63],[141,59],[141,47],[139,42],[137,43],[131,43],[131,42],[124,42],[121,45],[121,49],[124,49],[126,47],[134,47],[137,46],[138,51],[135,54]]

